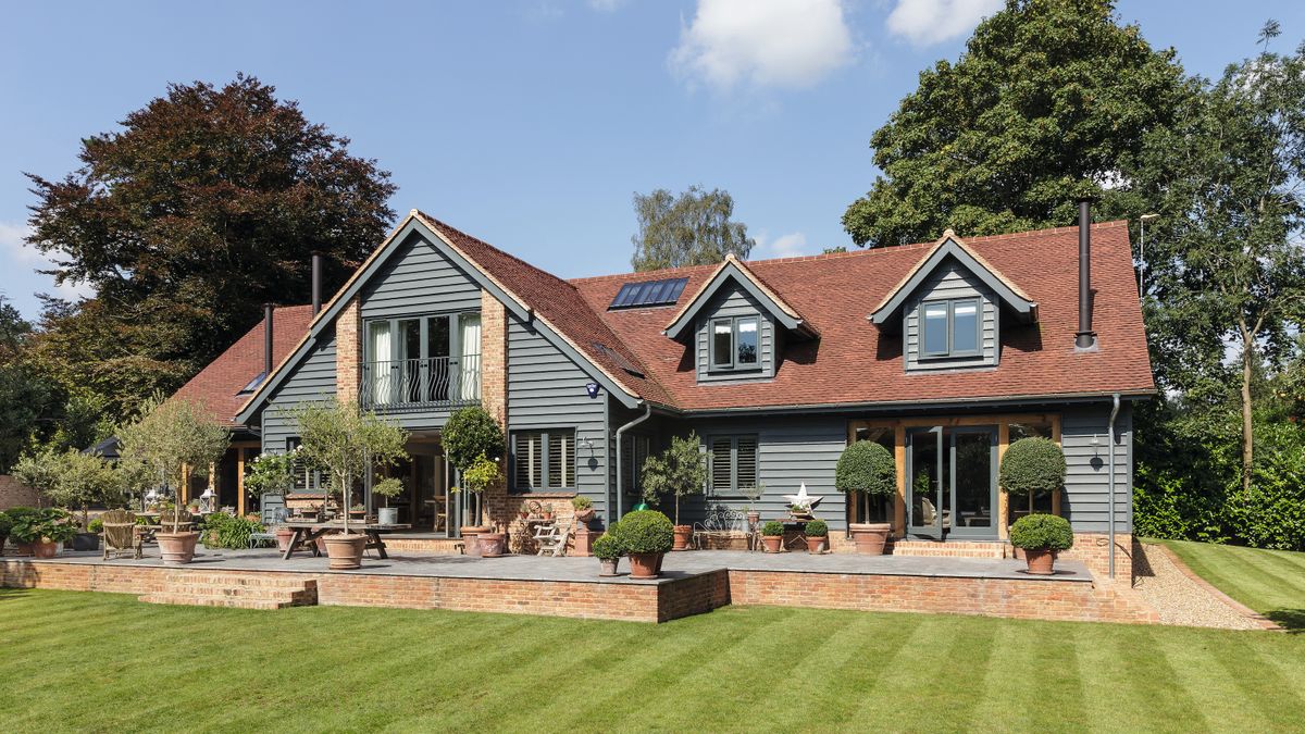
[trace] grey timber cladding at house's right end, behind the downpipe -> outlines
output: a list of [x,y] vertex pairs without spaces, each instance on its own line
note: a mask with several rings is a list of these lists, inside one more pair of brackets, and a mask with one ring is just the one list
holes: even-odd
[[[1065,517],[1078,532],[1100,533],[1109,526],[1109,406],[1067,409],[1061,418],[1065,451]],[[1092,443],[1096,439],[1098,443]],[[1125,404],[1114,419],[1114,530],[1133,532],[1133,410]]]

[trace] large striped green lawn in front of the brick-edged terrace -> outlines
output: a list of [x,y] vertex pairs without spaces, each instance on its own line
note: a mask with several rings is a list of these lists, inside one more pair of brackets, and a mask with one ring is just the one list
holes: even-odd
[[669,624],[0,590],[0,722],[63,730],[1288,731],[1305,636],[726,607]]

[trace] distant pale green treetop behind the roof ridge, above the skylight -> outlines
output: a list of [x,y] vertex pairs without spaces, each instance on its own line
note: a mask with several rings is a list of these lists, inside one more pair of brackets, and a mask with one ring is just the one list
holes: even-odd
[[675,196],[664,188],[634,195],[634,214],[639,231],[630,242],[637,272],[711,265],[733,253],[746,260],[757,240],[748,236],[748,226],[732,222],[733,197],[729,192],[690,185]]

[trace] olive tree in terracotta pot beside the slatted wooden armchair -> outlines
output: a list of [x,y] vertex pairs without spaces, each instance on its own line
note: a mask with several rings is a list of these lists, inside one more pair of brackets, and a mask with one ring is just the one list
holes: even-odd
[[[117,430],[117,438],[124,458],[149,465],[177,492],[188,468],[206,470],[231,445],[231,431],[204,406],[185,398],[150,398],[136,422]],[[187,517],[183,519],[183,515]],[[159,517],[164,529],[171,526],[171,530],[154,535],[163,563],[191,563],[194,558],[200,533],[191,529],[188,520],[180,502]]]

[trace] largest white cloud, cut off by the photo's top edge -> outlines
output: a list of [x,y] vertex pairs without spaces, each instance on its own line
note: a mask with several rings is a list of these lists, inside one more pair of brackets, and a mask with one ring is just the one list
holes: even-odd
[[675,73],[718,90],[797,89],[852,61],[840,0],[698,0],[671,51]]

